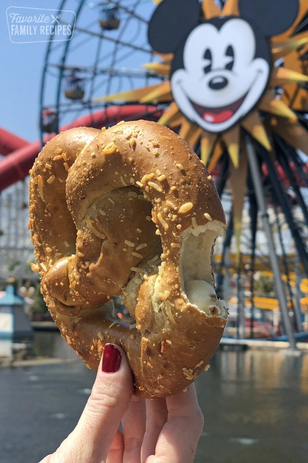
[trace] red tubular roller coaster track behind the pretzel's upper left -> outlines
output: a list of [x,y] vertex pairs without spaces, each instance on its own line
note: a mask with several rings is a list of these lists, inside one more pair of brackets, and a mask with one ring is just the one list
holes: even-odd
[[[138,120],[140,118],[157,120],[161,112],[155,112],[155,110],[155,106],[147,105],[110,106],[97,113],[82,116],[74,122],[61,127],[60,131],[72,129],[73,127],[101,128],[105,125],[112,126],[120,120]],[[146,117],[145,115],[148,113],[150,116]],[[44,137],[45,143],[54,136],[55,133],[46,135]],[[0,191],[18,180],[25,179],[33,165],[35,157],[40,151],[40,140],[28,143],[22,138],[0,128],[0,153],[6,155],[0,162]]]

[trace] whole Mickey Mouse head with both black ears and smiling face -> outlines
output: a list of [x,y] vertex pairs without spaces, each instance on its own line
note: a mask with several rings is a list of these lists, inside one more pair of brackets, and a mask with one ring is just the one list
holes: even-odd
[[238,0],[238,9],[200,23],[199,0],[163,0],[149,23],[153,49],[174,54],[175,102],[209,132],[228,130],[258,103],[272,64],[268,38],[294,23],[298,0]]

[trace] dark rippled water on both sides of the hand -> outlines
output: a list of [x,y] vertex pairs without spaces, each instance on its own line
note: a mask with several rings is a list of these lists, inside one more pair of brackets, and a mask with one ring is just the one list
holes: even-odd
[[[55,332],[36,333],[33,350],[65,360],[0,370],[1,463],[35,463],[53,452],[94,380]],[[197,391],[205,424],[196,463],[307,461],[308,355],[221,350]]]

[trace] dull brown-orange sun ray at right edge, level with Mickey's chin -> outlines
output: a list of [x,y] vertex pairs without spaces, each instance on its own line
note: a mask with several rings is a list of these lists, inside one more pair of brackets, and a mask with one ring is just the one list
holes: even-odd
[[272,117],[271,126],[289,145],[308,154],[308,132],[299,122]]

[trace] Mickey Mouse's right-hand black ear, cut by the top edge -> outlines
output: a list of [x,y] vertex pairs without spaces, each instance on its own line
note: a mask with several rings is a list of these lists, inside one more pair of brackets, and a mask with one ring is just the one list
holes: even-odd
[[296,20],[298,9],[298,0],[239,0],[241,16],[258,24],[265,37],[288,29]]

